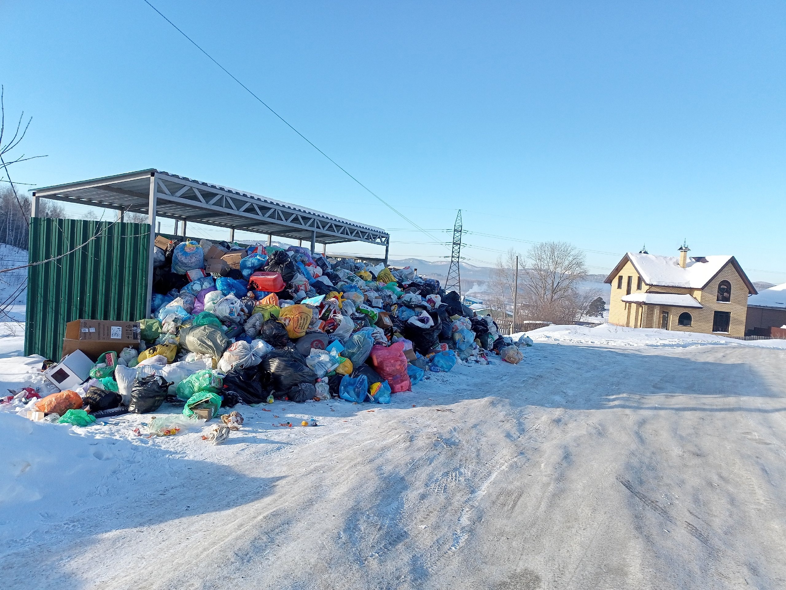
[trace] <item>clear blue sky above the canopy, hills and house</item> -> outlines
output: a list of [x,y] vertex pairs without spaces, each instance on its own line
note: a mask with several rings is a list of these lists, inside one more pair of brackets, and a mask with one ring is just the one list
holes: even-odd
[[[783,2],[152,3],[421,227],[447,239],[461,208],[501,236],[468,234],[472,264],[565,240],[603,272],[686,238],[786,281]],[[142,0],[0,18],[6,111],[48,154],[18,180],[159,168],[389,228],[391,256],[449,253]]]

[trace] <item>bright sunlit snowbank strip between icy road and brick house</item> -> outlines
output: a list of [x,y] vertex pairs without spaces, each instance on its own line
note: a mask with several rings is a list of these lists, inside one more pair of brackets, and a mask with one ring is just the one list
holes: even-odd
[[[520,334],[514,334],[518,337]],[[536,342],[560,342],[603,346],[696,346],[729,345],[758,348],[786,348],[786,340],[737,340],[715,334],[677,332],[657,328],[628,328],[607,323],[593,328],[587,326],[546,326],[527,332]]]

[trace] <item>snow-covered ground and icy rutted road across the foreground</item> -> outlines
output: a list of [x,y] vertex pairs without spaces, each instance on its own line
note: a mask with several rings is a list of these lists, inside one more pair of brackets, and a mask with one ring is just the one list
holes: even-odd
[[[0,412],[3,586],[784,587],[784,349],[531,336],[517,366],[432,374],[390,406],[238,407],[221,446],[136,436],[149,415]],[[22,363],[0,359],[6,387]]]

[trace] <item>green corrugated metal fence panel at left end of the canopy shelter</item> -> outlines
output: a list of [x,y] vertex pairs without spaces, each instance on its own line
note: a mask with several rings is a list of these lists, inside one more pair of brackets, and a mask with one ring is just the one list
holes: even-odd
[[32,218],[30,262],[49,261],[28,267],[24,354],[60,360],[74,319],[145,317],[149,239],[147,223]]

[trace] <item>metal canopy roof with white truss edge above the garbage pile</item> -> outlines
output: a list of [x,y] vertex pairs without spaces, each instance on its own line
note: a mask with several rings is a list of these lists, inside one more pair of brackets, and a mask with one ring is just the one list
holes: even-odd
[[[153,183],[151,178],[155,179]],[[155,187],[154,211],[158,216],[303,241],[315,238],[321,244],[367,242],[387,246],[390,243],[390,235],[379,227],[154,168],[46,186],[36,189],[33,195],[146,215],[152,187]]]

